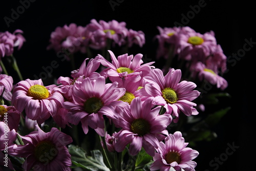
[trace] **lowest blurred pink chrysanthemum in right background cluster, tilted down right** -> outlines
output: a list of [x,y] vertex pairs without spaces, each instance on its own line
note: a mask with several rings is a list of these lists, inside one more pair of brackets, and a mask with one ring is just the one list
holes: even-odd
[[214,69],[206,67],[202,62],[198,62],[194,67],[195,73],[197,74],[200,81],[205,79],[212,85],[216,85],[218,89],[224,90],[228,86],[227,80],[219,76]]

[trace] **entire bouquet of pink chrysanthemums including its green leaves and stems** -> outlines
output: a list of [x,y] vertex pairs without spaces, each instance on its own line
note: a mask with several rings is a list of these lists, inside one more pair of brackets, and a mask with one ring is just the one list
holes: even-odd
[[195,170],[194,148],[229,110],[217,106],[226,56],[213,31],[157,29],[153,61],[130,54],[146,41],[125,22],[57,27],[47,50],[71,66],[51,84],[23,79],[23,31],[0,32],[0,170]]

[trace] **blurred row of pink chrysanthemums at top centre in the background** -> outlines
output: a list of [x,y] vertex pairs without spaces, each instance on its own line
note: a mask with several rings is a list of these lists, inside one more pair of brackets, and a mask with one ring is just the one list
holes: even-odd
[[118,45],[132,47],[134,44],[142,47],[145,44],[145,37],[142,31],[135,31],[126,28],[126,23],[111,20],[105,22],[95,19],[86,26],[77,26],[72,23],[69,26],[57,27],[51,33],[48,50],[54,49],[56,52],[68,50],[73,54],[80,51],[86,53],[88,48],[103,49]]

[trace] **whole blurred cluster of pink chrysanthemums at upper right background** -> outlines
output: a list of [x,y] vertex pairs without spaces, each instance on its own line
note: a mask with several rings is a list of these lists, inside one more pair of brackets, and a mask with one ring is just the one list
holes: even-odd
[[158,30],[158,58],[174,56],[179,61],[185,60],[190,76],[201,81],[205,79],[221,90],[227,88],[228,83],[221,76],[226,71],[227,57],[213,31],[201,34],[190,27],[158,27]]

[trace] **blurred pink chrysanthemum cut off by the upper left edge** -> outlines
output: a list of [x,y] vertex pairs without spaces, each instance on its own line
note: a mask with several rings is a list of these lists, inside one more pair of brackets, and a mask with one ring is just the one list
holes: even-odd
[[10,56],[13,54],[14,47],[18,47],[18,50],[22,48],[26,39],[22,35],[22,30],[15,30],[13,33],[0,32],[0,58],[4,56]]

